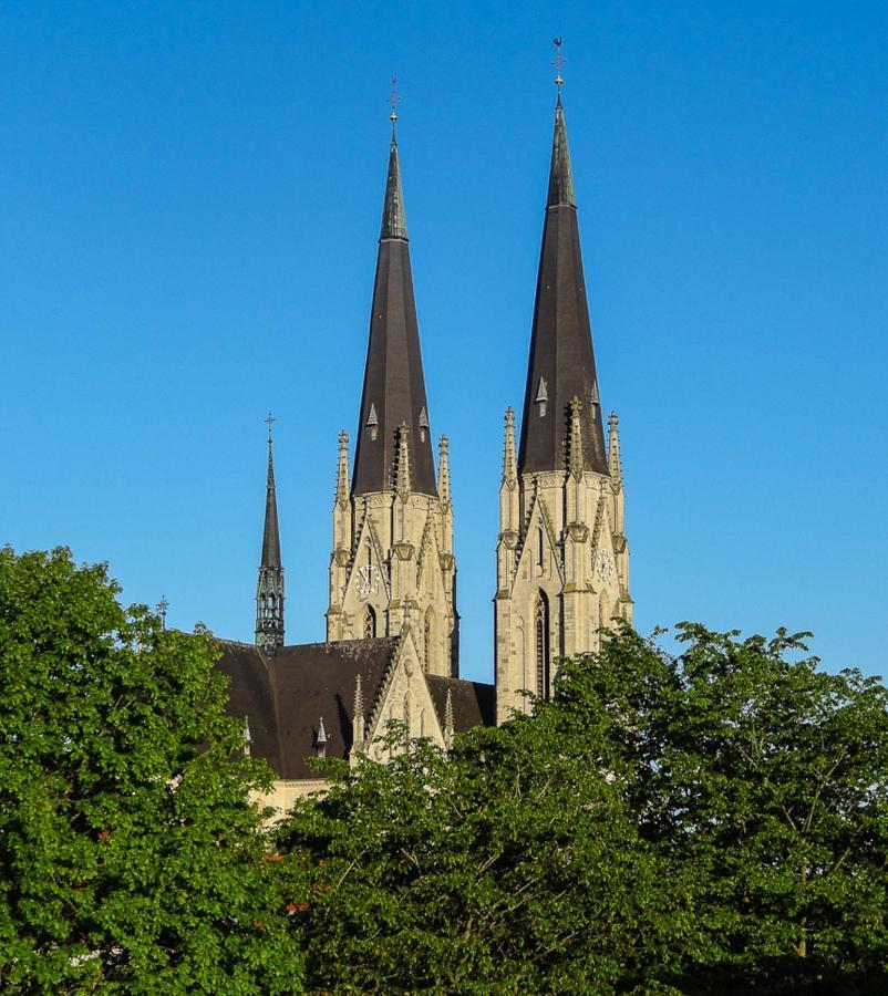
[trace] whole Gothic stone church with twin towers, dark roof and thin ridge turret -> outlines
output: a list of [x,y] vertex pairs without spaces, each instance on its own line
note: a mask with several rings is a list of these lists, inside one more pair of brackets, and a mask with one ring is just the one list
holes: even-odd
[[617,416],[601,413],[561,106],[522,424],[506,411],[496,547],[495,684],[460,678],[447,437],[433,453],[395,122],[354,440],[339,436],[327,641],[287,644],[269,416],[255,643],[220,641],[245,750],[277,775],[279,809],[323,782],[312,757],[382,758],[390,719],[448,747],[455,733],[547,697],[559,656],[631,622]]

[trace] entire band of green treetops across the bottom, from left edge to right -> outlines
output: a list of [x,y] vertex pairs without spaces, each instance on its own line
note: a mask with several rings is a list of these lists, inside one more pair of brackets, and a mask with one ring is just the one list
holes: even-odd
[[807,634],[628,626],[276,827],[211,636],[0,551],[0,988],[888,988],[888,693]]

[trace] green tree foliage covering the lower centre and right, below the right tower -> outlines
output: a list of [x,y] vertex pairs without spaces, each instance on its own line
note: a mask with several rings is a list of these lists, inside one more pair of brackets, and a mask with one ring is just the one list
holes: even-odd
[[884,988],[888,696],[804,635],[623,627],[448,757],[393,728],[281,829],[310,987]]

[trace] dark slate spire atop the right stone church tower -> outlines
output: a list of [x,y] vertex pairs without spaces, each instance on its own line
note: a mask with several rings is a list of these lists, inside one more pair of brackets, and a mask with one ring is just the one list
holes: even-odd
[[[520,473],[567,468],[574,398],[579,401],[582,469],[607,474],[577,201],[559,92],[522,419]],[[572,460],[576,467],[577,454]]]

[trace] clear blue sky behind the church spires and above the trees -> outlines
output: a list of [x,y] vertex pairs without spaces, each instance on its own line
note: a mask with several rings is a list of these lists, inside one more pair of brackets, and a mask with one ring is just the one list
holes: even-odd
[[396,72],[464,674],[489,679],[565,106],[642,630],[888,671],[888,6],[4,2],[0,541],[252,639],[265,426],[288,639],[323,639]]

